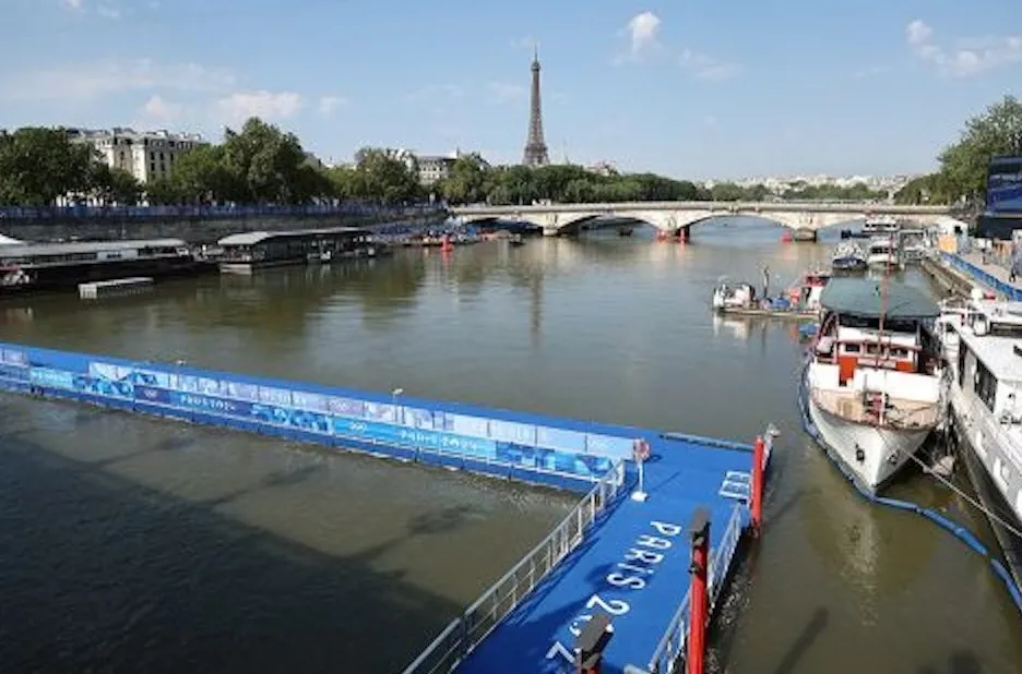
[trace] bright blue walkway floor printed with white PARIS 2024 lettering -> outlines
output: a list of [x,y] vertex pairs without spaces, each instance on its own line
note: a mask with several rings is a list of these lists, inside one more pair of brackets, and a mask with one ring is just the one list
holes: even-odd
[[[555,571],[455,667],[456,673],[574,672],[570,658],[577,634],[601,609],[611,609],[614,628],[603,671],[646,667],[688,592],[692,515],[699,507],[710,509],[713,557],[733,515],[737,513],[742,526],[747,521],[745,498],[752,461],[747,447],[650,442],[649,500],[632,501],[631,490],[626,490]],[[664,544],[669,546],[659,546]],[[662,554],[663,559],[637,561],[637,551]],[[726,556],[725,574],[732,555]],[[628,581],[632,587],[621,587],[627,578],[633,579]]]

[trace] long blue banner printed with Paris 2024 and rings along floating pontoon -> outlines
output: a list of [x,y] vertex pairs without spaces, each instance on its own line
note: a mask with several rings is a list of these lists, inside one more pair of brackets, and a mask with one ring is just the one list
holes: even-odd
[[630,437],[262,386],[212,372],[180,374],[173,365],[146,362],[134,368],[84,354],[3,347],[0,377],[7,382],[28,381],[92,399],[138,400],[211,423],[241,420],[593,479],[605,474],[614,460],[631,457]]

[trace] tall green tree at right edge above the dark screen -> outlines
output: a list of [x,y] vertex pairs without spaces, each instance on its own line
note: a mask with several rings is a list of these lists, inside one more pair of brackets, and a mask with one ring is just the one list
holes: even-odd
[[958,142],[940,153],[940,173],[953,200],[982,201],[990,158],[1022,155],[1022,101],[1005,96],[965,122]]

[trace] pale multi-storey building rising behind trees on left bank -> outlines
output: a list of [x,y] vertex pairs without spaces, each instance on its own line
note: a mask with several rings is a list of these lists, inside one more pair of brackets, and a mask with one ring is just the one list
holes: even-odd
[[72,140],[91,143],[110,168],[119,168],[139,182],[170,176],[180,156],[200,145],[207,145],[198,134],[177,134],[166,130],[134,131],[115,127],[109,130],[72,129]]

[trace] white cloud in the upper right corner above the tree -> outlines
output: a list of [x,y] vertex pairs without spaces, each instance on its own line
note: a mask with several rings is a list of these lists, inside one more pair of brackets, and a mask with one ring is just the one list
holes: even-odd
[[940,73],[968,77],[1013,63],[1022,63],[1022,36],[987,36],[955,40],[948,47],[934,39],[934,29],[916,20],[905,28],[905,39],[916,57]]

